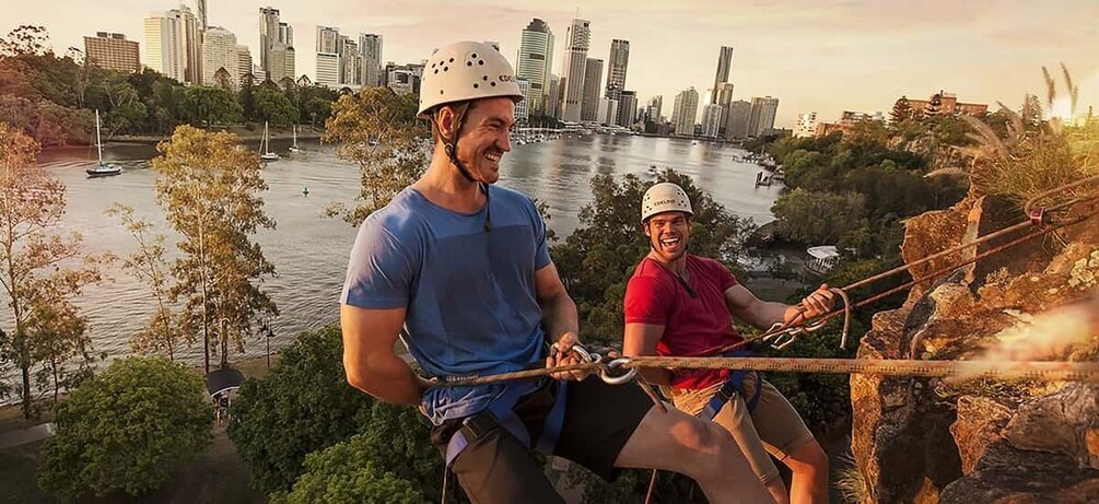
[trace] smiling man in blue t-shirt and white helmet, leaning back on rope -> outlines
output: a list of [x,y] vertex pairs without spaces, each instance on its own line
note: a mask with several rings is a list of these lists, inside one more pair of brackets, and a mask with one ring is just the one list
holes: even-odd
[[[511,65],[487,44],[429,58],[420,116],[432,124],[431,165],[363,223],[352,248],[341,298],[347,381],[420,406],[476,503],[562,502],[535,450],[608,480],[617,468],[666,469],[693,478],[711,502],[768,502],[728,434],[662,413],[637,388],[581,372],[433,388],[396,354],[400,337],[434,377],[579,362],[576,305],[545,225],[528,197],[493,186],[521,99]],[[560,351],[546,356],[545,343]]]

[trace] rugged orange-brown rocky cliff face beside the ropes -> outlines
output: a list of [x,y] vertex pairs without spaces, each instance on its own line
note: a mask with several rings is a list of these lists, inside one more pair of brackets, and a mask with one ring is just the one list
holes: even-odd
[[[1091,210],[1077,205],[1070,213]],[[1024,219],[1002,199],[969,198],[908,221],[902,254],[912,261]],[[1017,236],[911,273],[921,278]],[[992,348],[992,358],[1094,360],[1095,332],[1074,345],[1004,338],[1034,314],[1086,298],[1097,283],[1099,219],[1092,217],[914,289],[902,307],[875,315],[858,357],[974,359]],[[1099,502],[1099,385],[853,376],[851,400],[852,450],[873,502]]]

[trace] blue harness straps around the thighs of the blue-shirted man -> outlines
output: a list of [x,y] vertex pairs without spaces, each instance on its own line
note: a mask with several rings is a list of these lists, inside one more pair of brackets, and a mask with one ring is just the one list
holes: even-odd
[[[565,425],[565,397],[568,392],[568,383],[560,382],[560,387],[557,389],[557,396],[554,397],[553,407],[550,408],[550,413],[546,415],[542,423],[542,436],[539,437],[537,444],[534,449],[542,455],[553,455],[553,450],[557,447],[557,439],[560,437],[560,430]],[[526,425],[523,421],[515,414],[515,404],[523,399],[522,388],[513,387],[512,384],[506,384],[503,392],[497,396],[488,406],[488,413],[492,415],[501,427],[503,427],[508,433],[519,439],[523,446],[531,446],[531,433],[526,429]],[[467,417],[463,423],[466,423],[473,418],[473,416]],[[462,451],[466,449],[471,443],[470,439],[466,438],[465,433],[462,429],[454,433],[451,436],[449,443],[446,444],[446,467],[449,468],[454,460],[462,455]]]

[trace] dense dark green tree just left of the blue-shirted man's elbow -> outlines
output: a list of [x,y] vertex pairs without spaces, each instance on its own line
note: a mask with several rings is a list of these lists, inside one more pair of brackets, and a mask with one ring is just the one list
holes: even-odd
[[306,456],[344,441],[370,419],[373,400],[347,384],[338,327],[302,333],[263,380],[233,402],[229,437],[264,492],[289,491]]

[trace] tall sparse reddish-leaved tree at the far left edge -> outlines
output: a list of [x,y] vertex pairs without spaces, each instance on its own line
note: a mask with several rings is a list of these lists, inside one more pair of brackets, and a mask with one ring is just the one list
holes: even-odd
[[65,214],[65,186],[35,161],[38,145],[0,123],[0,285],[8,293],[13,332],[0,337],[0,361],[21,371],[23,415],[32,413],[31,370],[48,363],[54,373],[87,343],[70,299],[99,280],[93,259],[77,269],[63,267],[84,256],[78,233],[55,232]]

